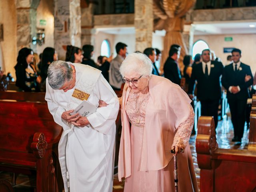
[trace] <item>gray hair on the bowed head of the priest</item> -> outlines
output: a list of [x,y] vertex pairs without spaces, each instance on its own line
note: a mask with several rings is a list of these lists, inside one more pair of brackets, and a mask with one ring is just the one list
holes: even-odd
[[73,69],[69,62],[54,61],[48,68],[48,83],[53,89],[60,89],[66,81],[72,80]]

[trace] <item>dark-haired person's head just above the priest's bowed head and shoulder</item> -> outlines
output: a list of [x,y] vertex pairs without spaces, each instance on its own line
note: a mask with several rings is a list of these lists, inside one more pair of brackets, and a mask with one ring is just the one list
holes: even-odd
[[83,58],[84,56],[82,54],[82,49],[72,45],[67,46],[66,61],[72,63],[81,63]]

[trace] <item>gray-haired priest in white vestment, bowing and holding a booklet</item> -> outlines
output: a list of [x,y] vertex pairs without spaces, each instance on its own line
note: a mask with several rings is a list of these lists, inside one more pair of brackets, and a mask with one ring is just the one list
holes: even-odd
[[[100,70],[55,61],[48,68],[46,96],[54,121],[63,127],[58,150],[65,192],[112,192],[119,102]],[[70,115],[87,100],[101,107],[87,117]]]

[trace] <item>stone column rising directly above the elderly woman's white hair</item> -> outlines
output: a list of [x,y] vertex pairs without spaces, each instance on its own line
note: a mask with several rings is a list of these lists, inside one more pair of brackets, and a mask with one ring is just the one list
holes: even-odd
[[154,30],[153,0],[135,0],[134,26],[136,36],[136,51],[143,52],[152,46]]

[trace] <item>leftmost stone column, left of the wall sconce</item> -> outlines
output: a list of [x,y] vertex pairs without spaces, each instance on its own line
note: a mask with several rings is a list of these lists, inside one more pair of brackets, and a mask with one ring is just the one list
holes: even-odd
[[32,37],[36,37],[36,9],[40,0],[16,0],[17,12],[17,50],[30,47],[36,52],[36,45],[32,44]]

